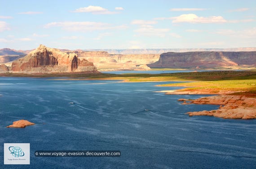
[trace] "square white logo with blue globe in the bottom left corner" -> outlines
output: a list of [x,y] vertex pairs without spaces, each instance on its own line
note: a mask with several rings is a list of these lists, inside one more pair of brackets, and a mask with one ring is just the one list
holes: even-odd
[[30,144],[29,143],[4,143],[5,165],[29,165]]

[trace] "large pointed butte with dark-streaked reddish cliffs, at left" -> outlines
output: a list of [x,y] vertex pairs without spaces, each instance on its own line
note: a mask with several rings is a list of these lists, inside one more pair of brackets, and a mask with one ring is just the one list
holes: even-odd
[[63,53],[58,49],[40,45],[35,51],[13,61],[12,72],[95,72],[93,63],[80,60],[75,53]]

